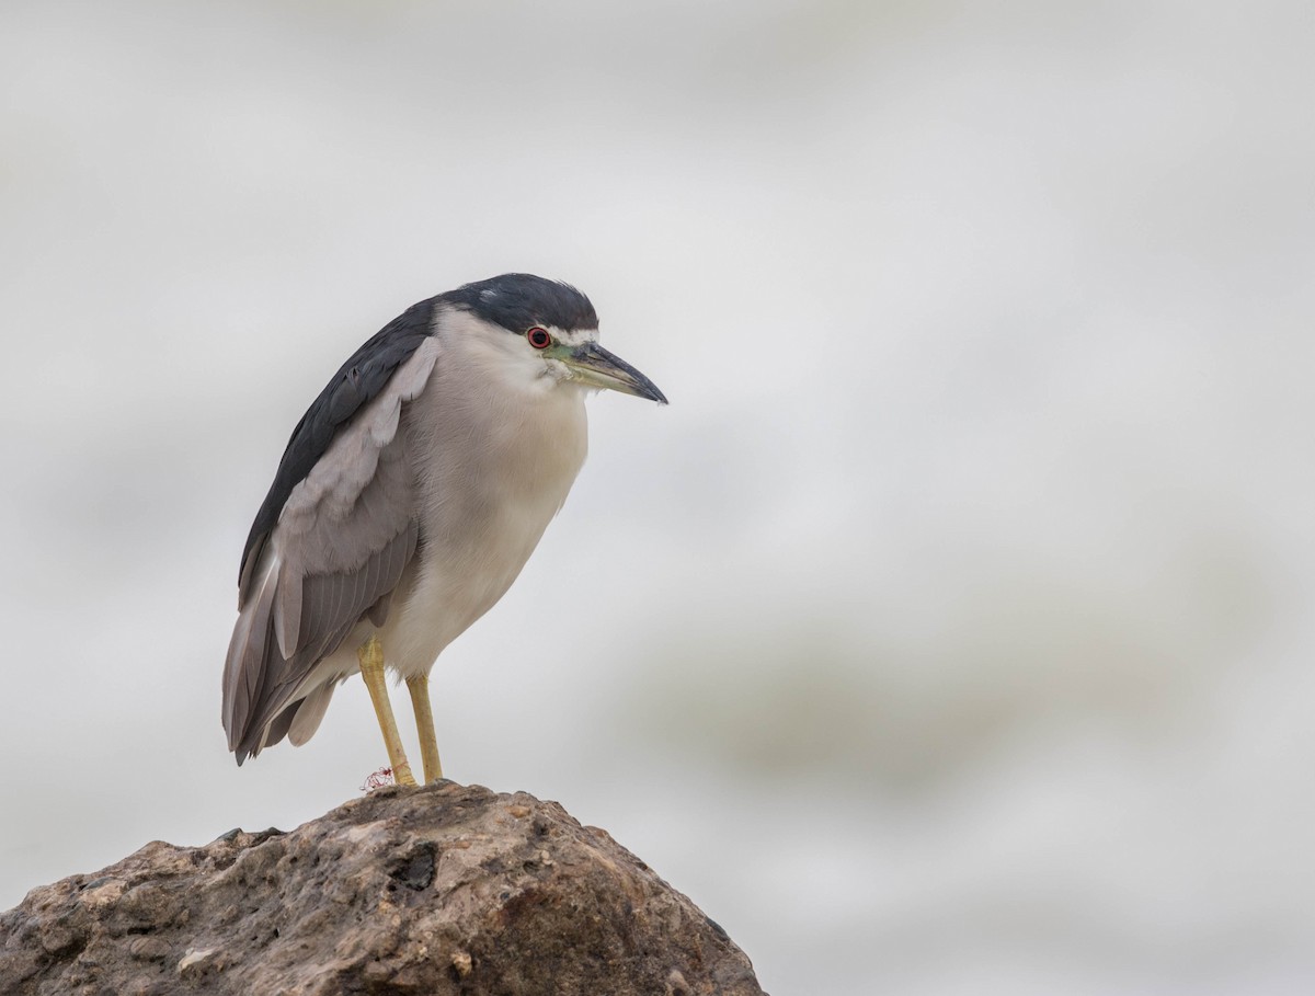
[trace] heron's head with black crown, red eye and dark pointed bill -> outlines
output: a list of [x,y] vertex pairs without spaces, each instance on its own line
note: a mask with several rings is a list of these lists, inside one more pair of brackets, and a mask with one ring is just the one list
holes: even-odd
[[454,290],[450,304],[514,339],[500,346],[534,376],[558,384],[619,390],[665,405],[665,396],[644,374],[598,344],[598,315],[589,298],[569,284],[504,273]]

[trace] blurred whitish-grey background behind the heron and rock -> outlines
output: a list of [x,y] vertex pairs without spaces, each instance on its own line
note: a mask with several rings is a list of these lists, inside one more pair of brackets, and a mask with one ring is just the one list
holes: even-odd
[[362,340],[523,269],[672,403],[590,402],[435,670],[451,775],[778,995],[1310,992],[1312,51],[1307,3],[11,0],[0,908],[384,763],[352,682],[233,765],[242,543]]

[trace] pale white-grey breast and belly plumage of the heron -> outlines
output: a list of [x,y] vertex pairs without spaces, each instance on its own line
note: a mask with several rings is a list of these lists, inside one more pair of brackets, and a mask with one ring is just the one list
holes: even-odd
[[510,587],[588,448],[583,392],[544,377],[518,336],[464,314],[448,321],[430,390],[404,418],[413,452],[434,456],[421,485],[421,566],[381,633],[402,675],[427,671]]

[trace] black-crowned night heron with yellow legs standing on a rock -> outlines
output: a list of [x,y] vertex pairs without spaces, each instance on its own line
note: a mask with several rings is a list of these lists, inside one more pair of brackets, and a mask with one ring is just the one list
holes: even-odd
[[665,405],[598,343],[569,284],[529,273],[413,305],[292,431],[247,535],[222,721],[238,765],[305,744],[360,673],[398,784],[416,784],[385,674],[410,692],[423,778],[443,778],[429,691],[442,650],[506,593],[585,460],[585,396]]

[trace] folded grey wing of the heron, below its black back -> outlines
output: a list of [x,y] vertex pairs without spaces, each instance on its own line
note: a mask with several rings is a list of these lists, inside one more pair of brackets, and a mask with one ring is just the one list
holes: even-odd
[[313,691],[302,682],[362,618],[387,619],[419,536],[401,409],[437,356],[438,340],[426,339],[338,430],[245,565],[224,668],[224,728],[238,763],[287,733],[289,706]]

